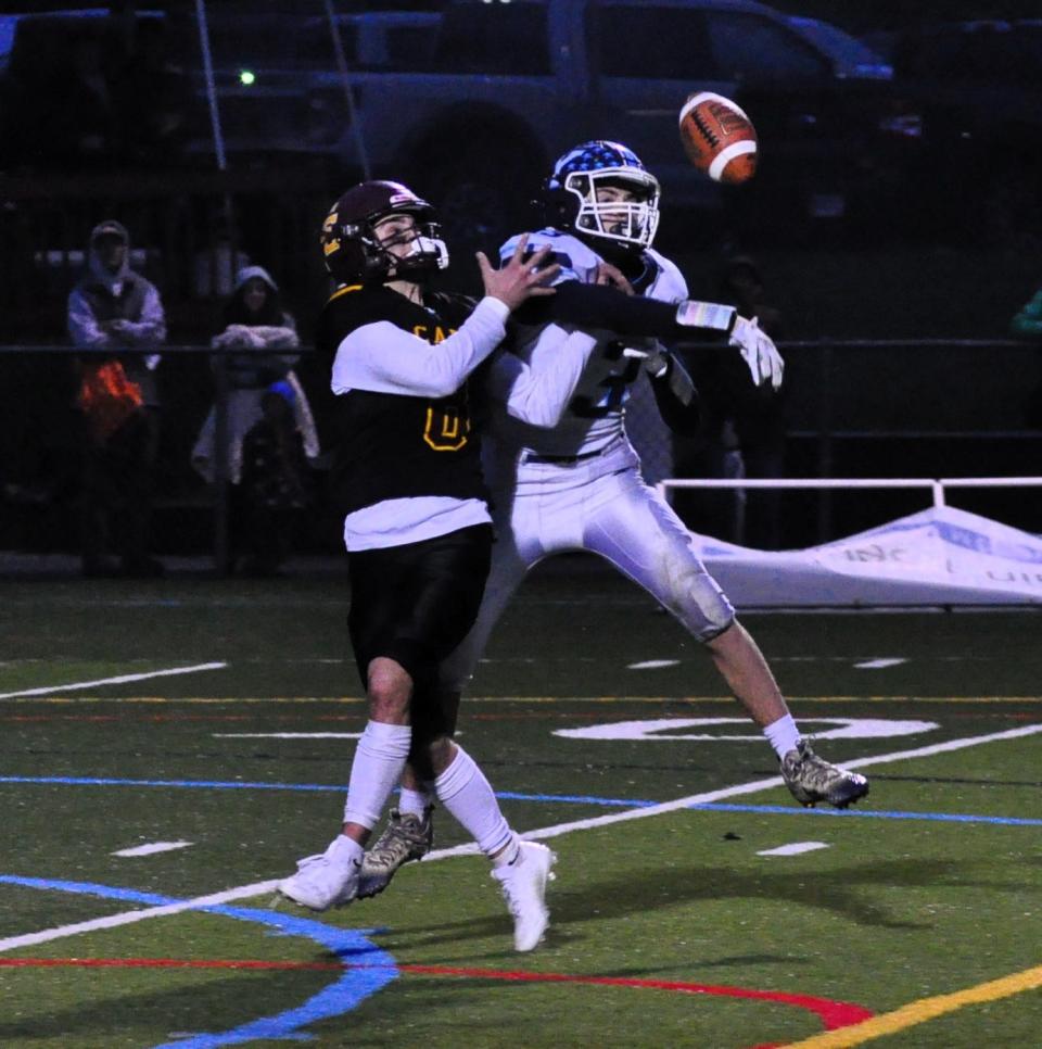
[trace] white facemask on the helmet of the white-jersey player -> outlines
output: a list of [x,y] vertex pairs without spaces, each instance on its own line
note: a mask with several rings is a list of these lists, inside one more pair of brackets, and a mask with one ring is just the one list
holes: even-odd
[[[598,201],[597,190],[605,187],[627,189],[631,201]],[[563,188],[579,199],[574,218],[576,232],[602,237],[632,248],[650,248],[659,228],[659,182],[648,172],[633,167],[606,167],[593,172],[572,172]]]

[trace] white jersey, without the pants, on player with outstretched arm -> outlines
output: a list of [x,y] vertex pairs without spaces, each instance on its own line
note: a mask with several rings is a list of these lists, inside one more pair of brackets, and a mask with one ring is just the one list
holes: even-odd
[[[501,258],[509,260],[517,243],[517,237],[508,240],[500,250]],[[544,245],[550,248],[552,261],[561,266],[555,283],[567,280],[594,282],[597,267],[603,260],[593,249],[571,233],[556,229],[529,235],[529,248],[535,250]],[[687,283],[672,262],[650,249],[644,257],[652,271],[640,294],[660,302],[681,302],[687,298]],[[522,328],[514,353],[531,367],[539,367],[544,358],[558,352],[563,334],[563,327],[558,325]],[[624,355],[625,347],[617,336],[609,332],[594,334],[597,345],[589,353],[558,425],[546,429],[519,421],[509,413],[494,413],[487,432],[500,445],[497,454],[526,450],[537,455],[584,456],[628,446],[623,418],[628,387],[639,375],[639,361]]]

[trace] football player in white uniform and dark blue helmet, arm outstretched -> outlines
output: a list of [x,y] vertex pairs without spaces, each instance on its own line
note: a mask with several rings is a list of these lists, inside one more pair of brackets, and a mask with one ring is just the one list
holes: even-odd
[[[801,737],[763,655],[707,572],[691,535],[645,484],[625,431],[628,391],[644,381],[641,372],[666,421],[681,430],[697,422],[690,380],[656,337],[690,340],[692,328],[715,332],[741,353],[757,384],[780,384],[782,358],[754,318],[688,299],[677,267],[651,248],[659,184],[626,147],[594,141],[570,150],[547,179],[544,200],[547,226],[530,236],[529,245],[549,248],[561,267],[557,294],[517,312],[522,327],[514,353],[535,369],[573,328],[595,334],[597,346],[556,425],[517,417],[509,386],[497,381],[505,364],[491,377],[483,463],[498,542],[478,620],[442,665],[444,693],[458,702],[530,568],[556,553],[589,551],[643,586],[704,645],[777,754],[793,797],[846,808],[867,794],[867,780],[824,761]],[[518,243],[508,240],[503,257],[512,257]],[[359,896],[381,892],[402,862],[423,855],[430,806],[429,787],[407,775],[398,809],[363,861]]]

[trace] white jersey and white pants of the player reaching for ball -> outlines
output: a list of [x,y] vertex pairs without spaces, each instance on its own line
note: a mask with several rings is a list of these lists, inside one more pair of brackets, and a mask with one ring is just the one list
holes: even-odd
[[[530,236],[532,248],[549,244],[561,264],[560,280],[592,283],[601,262],[582,241],[556,230]],[[513,254],[517,239],[503,254]],[[650,299],[687,298],[677,268],[653,251],[653,269],[638,281]],[[517,354],[533,370],[558,359],[576,339],[558,325],[524,332]],[[696,554],[691,535],[672,507],[645,484],[639,459],[626,437],[628,388],[639,362],[622,355],[618,337],[590,332],[592,346],[576,346],[571,364],[586,353],[577,378],[558,375],[558,393],[575,378],[559,420],[546,413],[543,426],[519,418],[514,397],[493,389],[492,418],[483,445],[485,478],[493,494],[498,541],[478,620],[440,669],[442,687],[460,692],[478,666],[485,643],[525,573],[544,557],[588,551],[614,565],[660,602],[699,641],[708,642],[734,621],[735,611]],[[504,358],[509,355],[505,354]],[[568,362],[562,362],[567,364]],[[645,381],[641,379],[641,381]],[[560,403],[560,400],[559,400]]]

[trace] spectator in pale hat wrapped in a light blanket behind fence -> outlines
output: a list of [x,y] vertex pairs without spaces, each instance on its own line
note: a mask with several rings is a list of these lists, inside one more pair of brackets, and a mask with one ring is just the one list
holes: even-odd
[[[262,266],[245,266],[236,276],[236,290],[225,306],[223,328],[211,345],[233,350],[211,358],[218,386],[227,390],[227,451],[225,477],[232,491],[232,548],[241,546],[246,510],[241,491],[243,440],[262,418],[262,400],[274,382],[292,393],[292,419],[304,452],[319,454],[318,433],[307,397],[293,365],[300,345],[293,317],[283,308],[279,289]],[[287,352],[290,351],[290,352]],[[192,466],[209,483],[216,480],[216,409],[211,408],[192,448]]]

